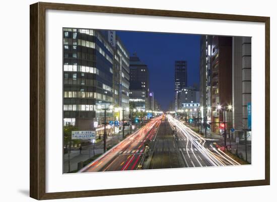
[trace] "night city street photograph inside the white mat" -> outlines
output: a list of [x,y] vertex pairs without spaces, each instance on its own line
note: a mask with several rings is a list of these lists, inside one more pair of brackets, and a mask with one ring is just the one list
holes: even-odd
[[62,68],[63,173],[251,164],[251,37],[63,28]]

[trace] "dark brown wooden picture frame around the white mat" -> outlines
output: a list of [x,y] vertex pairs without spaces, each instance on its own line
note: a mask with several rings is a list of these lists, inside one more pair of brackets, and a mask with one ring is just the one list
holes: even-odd
[[[265,179],[202,184],[130,187],[102,190],[51,192],[45,191],[45,11],[64,10],[112,14],[135,14],[212,20],[265,23]],[[181,11],[36,3],[30,5],[30,196],[35,199],[73,198],[163,191],[183,191],[225,187],[269,185],[270,183],[270,52],[269,17],[195,13]]]

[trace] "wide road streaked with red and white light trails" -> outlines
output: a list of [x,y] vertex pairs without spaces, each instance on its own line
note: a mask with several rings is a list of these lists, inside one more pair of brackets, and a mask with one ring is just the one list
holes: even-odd
[[[79,172],[239,165],[178,119],[162,117],[154,118]],[[146,143],[150,163],[144,161]]]

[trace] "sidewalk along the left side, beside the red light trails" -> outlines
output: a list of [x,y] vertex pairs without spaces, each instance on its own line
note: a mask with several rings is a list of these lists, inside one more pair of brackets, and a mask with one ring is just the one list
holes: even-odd
[[[137,128],[136,128],[137,129]],[[132,133],[136,130],[132,130]],[[124,130],[125,137],[130,132],[129,129]],[[114,134],[113,136],[108,136],[106,139],[106,148],[109,149],[116,144],[118,144],[120,141],[122,141],[122,131],[120,131],[117,134]],[[88,145],[88,146],[82,146],[82,152],[80,154],[79,149],[71,150],[70,153],[70,170],[77,170],[78,169],[78,163],[81,161],[86,161],[93,157],[93,147],[94,145]],[[94,148],[94,154],[103,154],[104,150],[104,143],[103,140],[95,144]],[[68,172],[68,153],[63,155],[63,173]]]

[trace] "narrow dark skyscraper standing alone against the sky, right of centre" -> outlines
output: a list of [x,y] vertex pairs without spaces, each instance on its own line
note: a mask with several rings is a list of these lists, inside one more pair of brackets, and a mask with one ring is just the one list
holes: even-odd
[[175,61],[175,110],[181,107],[178,106],[178,92],[184,87],[187,87],[187,61],[177,60]]

